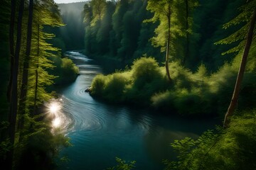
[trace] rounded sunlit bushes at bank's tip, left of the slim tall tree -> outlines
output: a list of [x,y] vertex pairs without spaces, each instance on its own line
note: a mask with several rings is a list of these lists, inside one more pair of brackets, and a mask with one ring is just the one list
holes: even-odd
[[[131,70],[118,71],[104,76],[99,74],[93,79],[92,96],[100,96],[112,103],[149,103],[149,98],[166,86],[164,75],[151,57],[134,61]],[[141,93],[144,91],[144,93]]]

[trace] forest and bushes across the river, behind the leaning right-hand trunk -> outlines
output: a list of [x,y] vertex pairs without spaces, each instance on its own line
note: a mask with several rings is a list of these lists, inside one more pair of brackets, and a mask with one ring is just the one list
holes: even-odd
[[[244,1],[189,1],[188,6],[185,2],[85,4],[85,54],[128,64],[125,72],[95,77],[91,94],[181,115],[223,114],[230,102],[226,96],[233,93],[255,2],[249,3],[250,10]],[[255,88],[255,58],[249,57],[247,63],[240,108],[255,103],[255,92],[250,91]]]

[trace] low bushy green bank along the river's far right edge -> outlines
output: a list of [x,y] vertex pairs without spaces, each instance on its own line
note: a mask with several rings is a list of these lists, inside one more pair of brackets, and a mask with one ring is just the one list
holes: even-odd
[[[110,103],[132,103],[147,106],[159,111],[178,113],[184,116],[223,116],[233,92],[237,69],[225,64],[218,72],[207,74],[202,64],[193,73],[178,62],[169,64],[171,82],[166,79],[164,67],[150,57],[135,60],[131,69],[109,75],[99,74],[93,79],[90,94]],[[253,74],[247,72],[238,106],[255,106],[253,93]],[[230,96],[230,97],[228,97]]]

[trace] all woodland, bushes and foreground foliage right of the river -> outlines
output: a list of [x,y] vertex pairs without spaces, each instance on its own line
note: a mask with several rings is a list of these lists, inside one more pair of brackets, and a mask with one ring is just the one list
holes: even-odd
[[178,160],[166,160],[166,169],[255,169],[255,7],[242,0],[90,1],[85,54],[127,67],[97,75],[87,91],[110,103],[223,118],[223,128],[198,140],[175,140]]

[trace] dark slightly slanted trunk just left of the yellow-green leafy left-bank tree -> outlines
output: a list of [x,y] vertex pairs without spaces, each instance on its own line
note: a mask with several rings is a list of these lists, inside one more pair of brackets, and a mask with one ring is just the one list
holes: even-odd
[[24,124],[24,115],[26,113],[26,94],[27,94],[27,85],[28,85],[28,62],[31,52],[31,38],[32,38],[32,21],[33,21],[33,0],[29,0],[28,7],[28,30],[27,30],[27,40],[26,40],[26,55],[23,62],[23,76],[21,84],[21,126],[23,128]]

